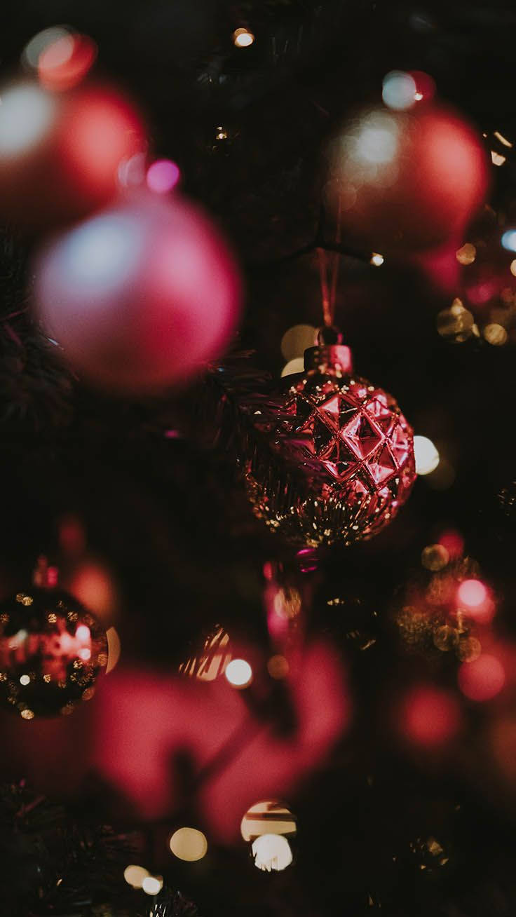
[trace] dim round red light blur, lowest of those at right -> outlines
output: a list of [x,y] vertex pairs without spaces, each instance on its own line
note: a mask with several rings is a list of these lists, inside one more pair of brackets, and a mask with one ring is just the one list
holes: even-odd
[[456,735],[460,710],[456,698],[433,686],[414,688],[401,710],[401,731],[421,746],[441,746]]

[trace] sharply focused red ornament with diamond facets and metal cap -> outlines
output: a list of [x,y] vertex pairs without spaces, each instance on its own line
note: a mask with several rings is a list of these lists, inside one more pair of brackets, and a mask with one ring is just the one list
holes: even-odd
[[[335,329],[251,421],[244,478],[255,514],[291,543],[350,545],[397,514],[415,480],[412,429],[394,399],[355,376]],[[334,343],[329,343],[333,340]]]

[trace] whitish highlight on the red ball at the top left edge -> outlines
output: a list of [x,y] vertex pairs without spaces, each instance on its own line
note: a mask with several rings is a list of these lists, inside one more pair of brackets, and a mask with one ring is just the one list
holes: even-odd
[[0,163],[37,147],[49,133],[56,103],[36,83],[18,83],[2,92]]

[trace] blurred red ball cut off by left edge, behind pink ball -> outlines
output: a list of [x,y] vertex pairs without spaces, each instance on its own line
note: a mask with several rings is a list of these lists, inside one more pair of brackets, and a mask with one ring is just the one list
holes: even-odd
[[115,90],[13,83],[0,105],[0,215],[26,229],[89,215],[115,197],[120,164],[145,146],[140,117]]

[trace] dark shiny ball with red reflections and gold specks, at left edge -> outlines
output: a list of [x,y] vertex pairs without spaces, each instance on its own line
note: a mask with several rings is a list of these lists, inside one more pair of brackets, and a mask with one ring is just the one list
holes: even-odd
[[72,713],[106,664],[104,629],[68,592],[31,586],[0,604],[0,702],[24,720]]

